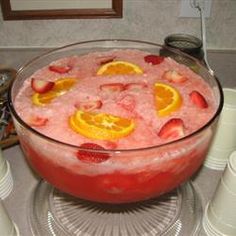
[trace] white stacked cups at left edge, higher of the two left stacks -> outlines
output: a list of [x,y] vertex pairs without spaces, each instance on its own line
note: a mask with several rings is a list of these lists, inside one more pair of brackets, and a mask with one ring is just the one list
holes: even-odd
[[4,200],[13,189],[13,178],[9,163],[4,159],[0,149],[0,199]]

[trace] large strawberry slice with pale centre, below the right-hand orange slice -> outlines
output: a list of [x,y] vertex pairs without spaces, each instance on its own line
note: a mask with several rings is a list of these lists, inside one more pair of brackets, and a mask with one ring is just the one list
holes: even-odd
[[162,139],[178,139],[184,136],[184,122],[179,118],[167,121],[158,133]]

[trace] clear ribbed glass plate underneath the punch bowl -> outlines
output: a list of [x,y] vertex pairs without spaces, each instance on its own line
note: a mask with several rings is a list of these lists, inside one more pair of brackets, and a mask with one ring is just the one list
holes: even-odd
[[41,181],[29,206],[33,235],[197,235],[200,197],[191,182],[161,197],[130,204],[102,204],[67,195]]

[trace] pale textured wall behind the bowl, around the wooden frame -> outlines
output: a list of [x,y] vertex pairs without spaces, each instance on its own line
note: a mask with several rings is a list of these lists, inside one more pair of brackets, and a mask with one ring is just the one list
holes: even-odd
[[[172,33],[200,37],[199,18],[179,18],[180,0],[123,0],[121,19],[3,21],[0,48],[57,47],[101,38],[162,43]],[[209,49],[236,50],[236,0],[212,0],[206,20]]]

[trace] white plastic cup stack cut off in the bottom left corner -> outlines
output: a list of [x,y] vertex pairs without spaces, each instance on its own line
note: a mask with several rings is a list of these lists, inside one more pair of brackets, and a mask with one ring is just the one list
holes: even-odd
[[16,224],[9,217],[3,203],[0,200],[0,235],[4,236],[17,236],[19,230]]

